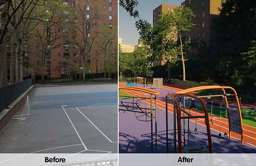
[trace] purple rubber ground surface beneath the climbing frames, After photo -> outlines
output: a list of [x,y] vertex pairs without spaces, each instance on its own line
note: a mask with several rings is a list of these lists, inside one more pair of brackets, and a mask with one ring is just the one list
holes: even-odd
[[[161,97],[160,97],[161,98]],[[120,102],[120,99],[119,99]],[[146,106],[144,106],[145,108]],[[124,108],[124,107],[120,107]],[[137,114],[139,115],[139,114]],[[144,116],[140,117],[143,119]],[[169,142],[173,141],[173,114],[168,112]],[[148,118],[149,119],[149,118]],[[183,128],[183,121],[182,128]],[[154,124],[154,121],[153,121]],[[154,125],[153,125],[154,129]],[[187,123],[186,123],[187,129]],[[195,135],[195,122],[190,121],[189,146],[208,145],[206,127],[197,123],[198,135]],[[212,147],[214,153],[256,153],[256,147],[248,143],[241,145],[241,141],[224,137],[217,139],[218,131],[211,129]],[[187,131],[186,131],[187,142]],[[166,111],[157,108],[157,149],[153,145],[153,153],[166,153]],[[169,145],[173,150],[173,145]],[[151,123],[139,121],[134,112],[119,112],[119,153],[151,153]]]

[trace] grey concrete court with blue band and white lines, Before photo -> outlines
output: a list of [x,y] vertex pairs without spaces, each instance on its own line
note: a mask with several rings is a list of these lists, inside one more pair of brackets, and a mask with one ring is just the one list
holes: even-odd
[[35,88],[28,119],[0,133],[0,153],[117,153],[117,84]]

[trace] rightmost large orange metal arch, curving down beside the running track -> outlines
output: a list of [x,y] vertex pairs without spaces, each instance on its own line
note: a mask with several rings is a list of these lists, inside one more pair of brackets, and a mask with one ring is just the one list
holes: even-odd
[[[182,91],[176,92],[176,94],[186,94],[189,92],[196,92],[196,91],[201,91],[201,90],[207,90],[207,89],[221,89],[222,92],[225,94],[225,90],[224,89],[231,89],[236,97],[236,103],[238,106],[238,110],[239,110],[239,116],[240,116],[240,125],[241,125],[241,144],[244,144],[244,130],[243,130],[243,123],[242,123],[242,114],[241,114],[241,107],[240,107],[240,103],[237,97],[237,93],[236,90],[233,89],[230,86],[198,86],[198,87],[194,87],[194,88],[189,88],[189,89],[184,89]],[[225,101],[227,103],[227,111],[228,111],[228,102],[227,102],[227,96],[225,96]],[[230,118],[228,117],[228,122],[229,122],[229,134],[230,134],[230,140],[231,140],[231,130],[230,130]]]

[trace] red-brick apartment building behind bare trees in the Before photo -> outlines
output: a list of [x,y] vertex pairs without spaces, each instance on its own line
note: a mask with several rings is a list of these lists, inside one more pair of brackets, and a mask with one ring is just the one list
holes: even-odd
[[[80,6],[81,9],[86,6],[86,12],[88,12],[88,14],[84,17],[88,17],[88,19],[92,17],[90,16],[90,13],[93,13],[93,11],[97,11],[97,17],[99,17],[99,19],[95,23],[93,23],[93,28],[90,29],[90,38],[88,38],[89,42],[103,26],[109,27],[111,29],[112,27],[115,27],[117,29],[117,0],[62,0],[62,3],[64,6],[70,6],[76,10],[78,10],[78,6]],[[51,52],[47,55],[45,60],[44,75],[49,75],[49,77],[60,77],[61,74],[63,74],[62,71],[58,69],[58,66],[60,66],[60,64],[63,64],[63,62],[65,61],[70,61],[71,63],[79,63],[79,51],[77,49],[77,46],[72,41],[76,40],[80,36],[81,34],[79,35],[79,31],[73,31],[72,29],[68,29],[65,34],[62,34],[61,37],[56,40],[57,44],[61,44],[55,49],[52,49]],[[118,48],[117,40],[118,39],[116,37],[116,48]],[[99,46],[97,46],[97,43],[95,41],[92,44],[92,48],[90,50],[90,54],[88,54],[89,57],[87,58],[88,60],[86,62],[87,74],[104,72],[104,58],[100,57]],[[24,47],[29,48],[27,49],[29,51],[27,51],[27,53],[25,52],[26,56],[24,57],[24,63],[26,63],[27,60],[29,63],[36,63],[39,66],[41,64],[41,58],[38,57],[38,55],[40,54],[40,52],[38,51],[40,49],[40,45],[38,43],[30,41],[30,39],[25,41],[24,43]],[[9,57],[9,54],[10,53],[7,53],[7,57]],[[90,57],[92,57],[92,59],[90,59]],[[82,68],[80,68],[79,72],[82,73]],[[36,74],[41,74],[40,68],[38,69]]]

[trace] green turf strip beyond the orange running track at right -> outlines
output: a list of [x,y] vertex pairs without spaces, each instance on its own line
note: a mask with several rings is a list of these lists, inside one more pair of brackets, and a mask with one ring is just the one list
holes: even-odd
[[[189,107],[186,105],[186,107]],[[207,107],[209,118],[211,117],[211,107]],[[197,110],[203,112],[203,106],[197,106]],[[241,109],[243,124],[256,127],[256,111],[250,113],[254,109]],[[212,115],[220,117],[220,108],[213,107]],[[227,115],[228,116],[228,115]],[[221,108],[221,117],[226,118],[226,108]]]

